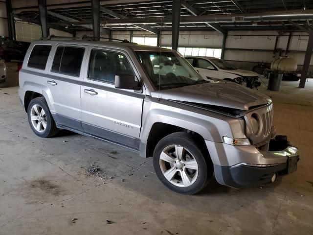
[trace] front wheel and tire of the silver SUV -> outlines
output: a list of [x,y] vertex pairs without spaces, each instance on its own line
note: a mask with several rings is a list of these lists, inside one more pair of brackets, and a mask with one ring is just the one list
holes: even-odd
[[[182,152],[180,157],[176,152]],[[159,180],[182,194],[200,192],[213,175],[208,154],[202,151],[195,136],[185,132],[170,134],[156,144],[153,165]]]

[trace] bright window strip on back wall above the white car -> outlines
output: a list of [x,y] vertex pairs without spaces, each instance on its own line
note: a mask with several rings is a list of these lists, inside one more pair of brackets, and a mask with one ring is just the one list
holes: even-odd
[[[172,47],[165,48],[172,49]],[[205,47],[178,47],[178,52],[183,56],[193,55],[193,56],[209,56],[221,58],[222,49]]]

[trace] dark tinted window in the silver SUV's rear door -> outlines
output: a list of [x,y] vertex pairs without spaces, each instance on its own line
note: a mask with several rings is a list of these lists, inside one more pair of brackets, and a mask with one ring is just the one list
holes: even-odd
[[68,75],[79,76],[85,48],[58,47],[55,52],[52,70]]

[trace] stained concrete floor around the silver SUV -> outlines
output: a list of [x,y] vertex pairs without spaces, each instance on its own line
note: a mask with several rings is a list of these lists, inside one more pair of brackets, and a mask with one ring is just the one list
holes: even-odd
[[[313,79],[306,89],[286,81],[281,92],[260,91],[274,100],[278,133],[301,149],[297,172],[263,188],[212,180],[185,196],[158,181],[151,159],[119,146],[69,132],[35,136],[14,63],[8,67],[9,87],[0,89],[0,235],[313,234]],[[87,176],[91,164],[108,179]]]

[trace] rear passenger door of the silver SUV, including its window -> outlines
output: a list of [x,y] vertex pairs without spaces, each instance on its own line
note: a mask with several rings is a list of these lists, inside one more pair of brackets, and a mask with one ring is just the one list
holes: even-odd
[[82,131],[80,85],[87,52],[88,46],[57,44],[43,87],[56,123],[76,131]]

